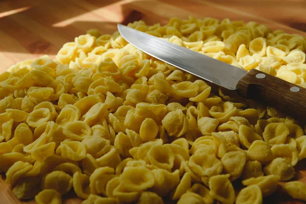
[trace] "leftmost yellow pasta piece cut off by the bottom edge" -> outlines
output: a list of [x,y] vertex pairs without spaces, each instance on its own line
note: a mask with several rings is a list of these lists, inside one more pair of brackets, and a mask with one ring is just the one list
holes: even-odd
[[45,189],[35,196],[35,201],[37,202],[37,204],[61,204],[62,197],[61,194],[56,190]]

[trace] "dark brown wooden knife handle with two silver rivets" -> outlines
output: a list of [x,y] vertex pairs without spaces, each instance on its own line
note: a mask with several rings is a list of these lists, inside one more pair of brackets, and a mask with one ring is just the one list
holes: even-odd
[[305,88],[251,69],[238,82],[237,92],[245,98],[275,107],[302,123],[306,122]]

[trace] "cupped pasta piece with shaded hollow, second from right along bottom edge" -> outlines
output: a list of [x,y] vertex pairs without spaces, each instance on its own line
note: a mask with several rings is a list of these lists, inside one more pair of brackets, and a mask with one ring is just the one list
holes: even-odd
[[222,203],[234,203],[236,198],[234,187],[228,177],[230,174],[215,175],[209,180],[212,197]]

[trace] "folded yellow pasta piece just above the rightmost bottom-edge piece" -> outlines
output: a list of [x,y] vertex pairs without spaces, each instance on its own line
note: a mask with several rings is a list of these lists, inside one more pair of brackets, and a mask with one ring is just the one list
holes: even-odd
[[276,175],[266,175],[259,176],[256,178],[251,177],[250,179],[243,180],[242,184],[244,186],[257,185],[260,187],[263,197],[267,197],[275,192],[279,181],[279,176]]

